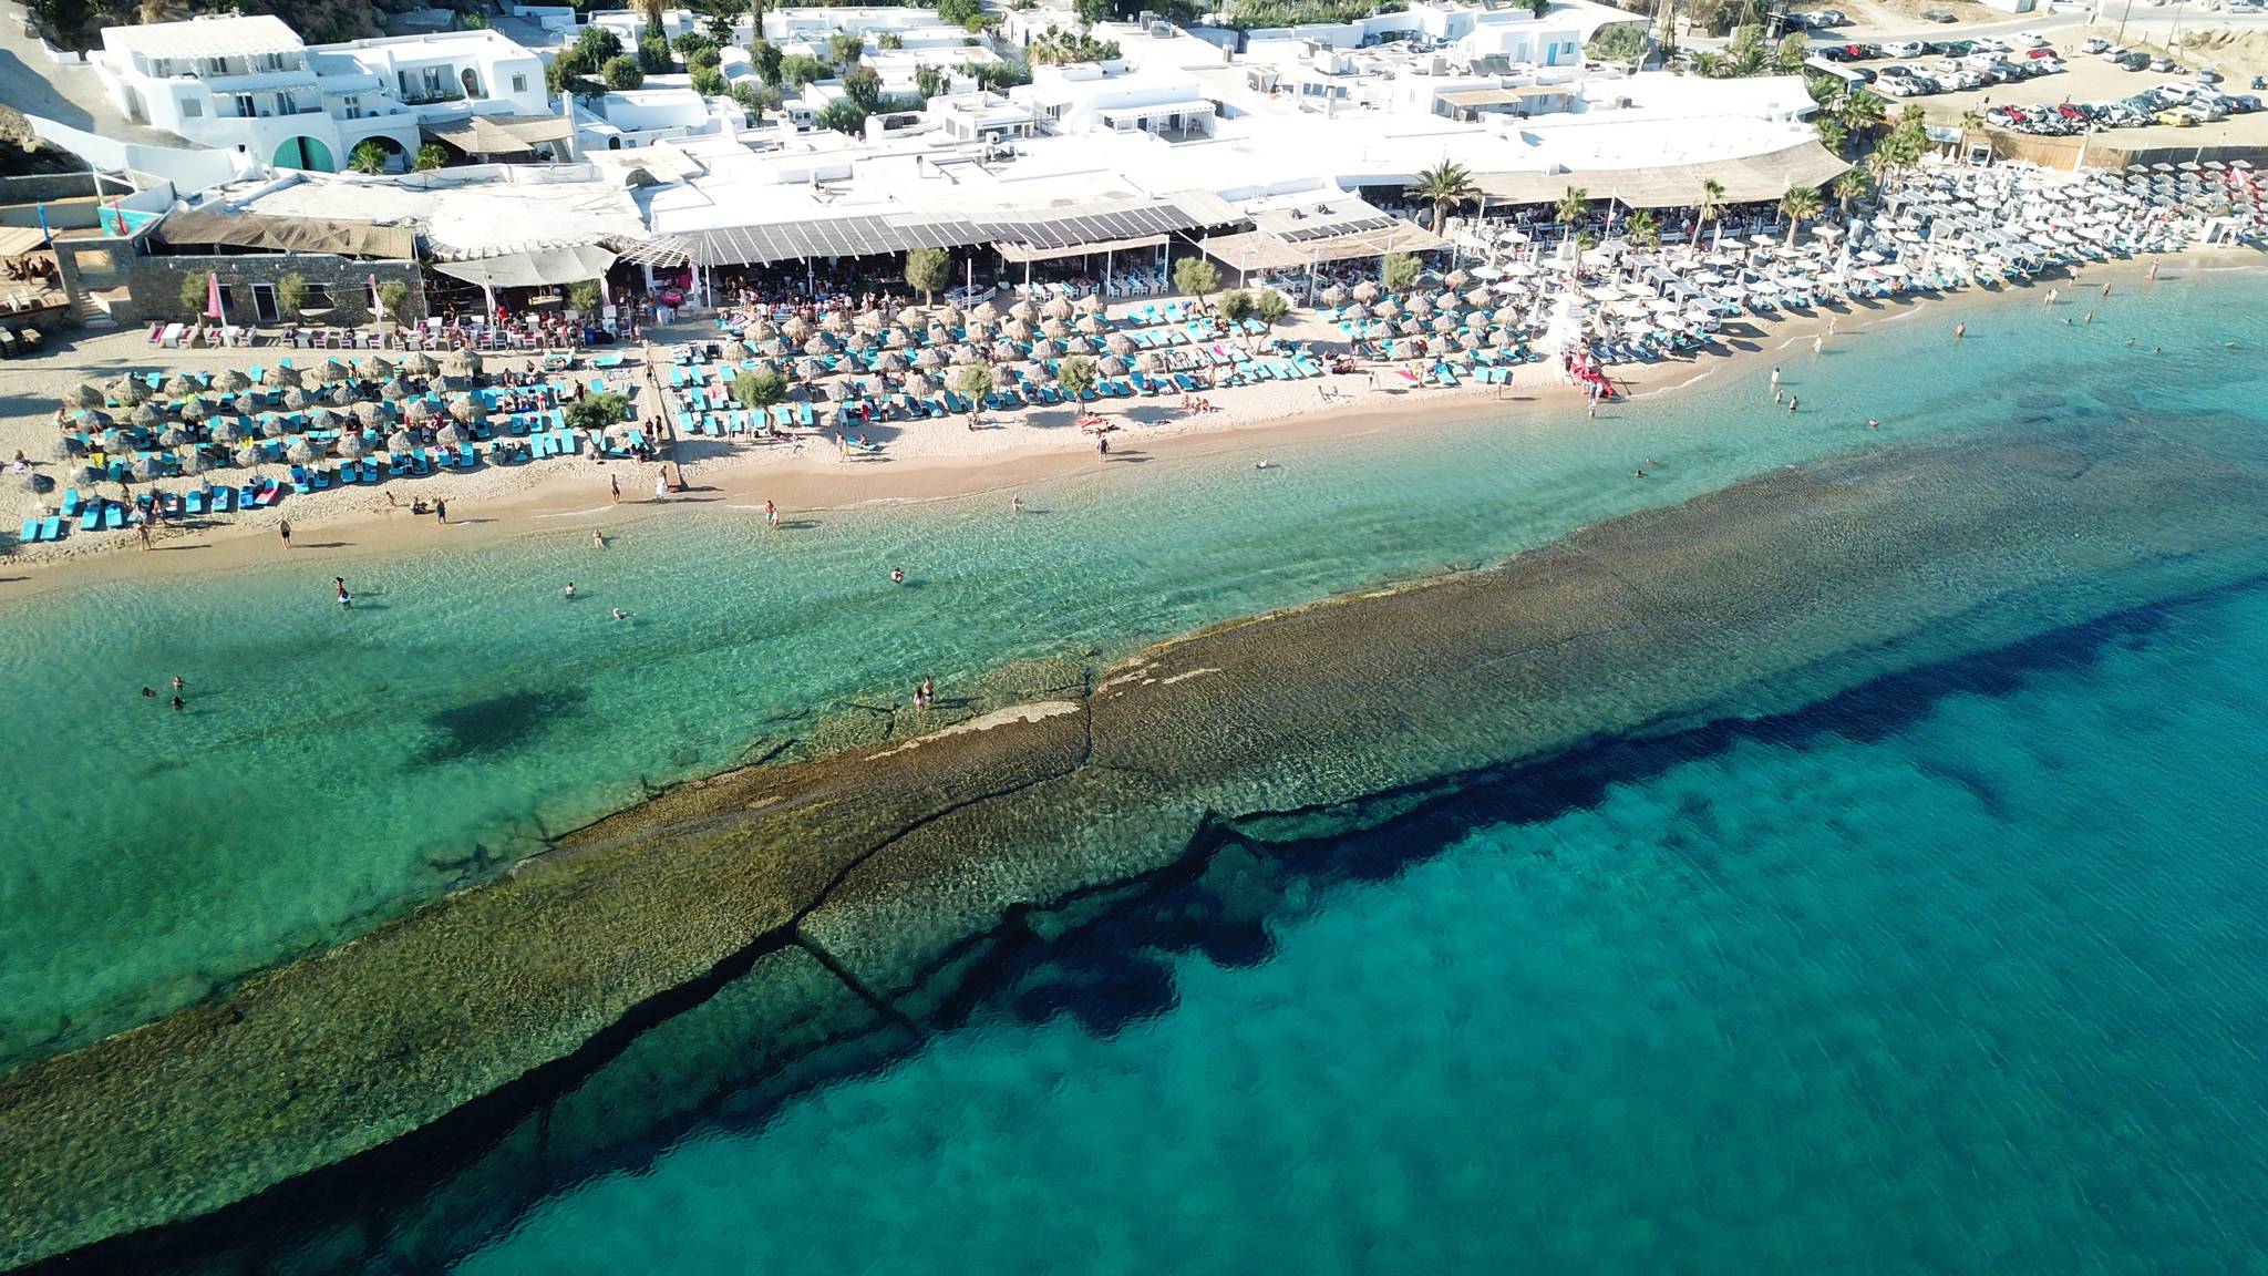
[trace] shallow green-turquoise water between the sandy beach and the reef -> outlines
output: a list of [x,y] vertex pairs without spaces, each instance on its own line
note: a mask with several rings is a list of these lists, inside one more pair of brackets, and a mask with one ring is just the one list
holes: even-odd
[[[2025,297],[1971,318],[1960,345],[1905,316],[1826,356],[1787,352],[1799,415],[1760,372],[1717,372],[1597,422],[1461,402],[1463,420],[1277,450],[1270,472],[1236,454],[1109,465],[1030,493],[1023,518],[987,495],[792,518],[767,538],[712,511],[608,552],[560,531],[0,595],[0,704],[39,742],[0,770],[0,1067],[349,938],[855,692],[1107,656],[1882,438],[2216,413],[2268,377],[2254,288],[2166,279],[2096,325]],[[329,602],[333,570],[352,613]],[[138,697],[172,674],[191,683],[184,715]]]

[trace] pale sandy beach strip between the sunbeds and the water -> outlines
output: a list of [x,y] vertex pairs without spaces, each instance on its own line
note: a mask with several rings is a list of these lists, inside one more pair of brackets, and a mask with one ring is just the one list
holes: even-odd
[[[1862,343],[1867,331],[1887,322],[1960,322],[1969,311],[2005,304],[2009,297],[2046,297],[2048,288],[2066,293],[2064,304],[2082,307],[2080,291],[2112,284],[2116,288],[2150,286],[2148,272],[2159,268],[2159,284],[2180,282],[2193,272],[2257,268],[2259,254],[2189,252],[2180,257],[2136,257],[2071,275],[2041,275],[2030,288],[1980,288],[1962,293],[1914,291],[1867,304],[1823,307],[1808,316],[1751,316],[1730,320],[1710,350],[1699,356],[1660,363],[1617,366],[1615,379],[1624,400],[1601,404],[1601,415],[1644,413],[1651,400],[1672,395],[1717,377],[1735,375],[1758,361],[1808,354],[1814,338],[1837,347]],[[1833,331],[1830,331],[1833,329]],[[674,341],[708,341],[708,325],[678,325],[658,334],[653,354],[667,359]],[[1345,352],[1345,338],[1302,313],[1281,327],[1284,341],[1311,341],[1320,352]],[[1948,334],[1950,341],[1950,334]],[[52,413],[66,388],[79,381],[104,381],[125,372],[150,370],[222,370],[274,363],[279,350],[170,350],[147,345],[141,331],[111,331],[64,343],[41,359],[11,368],[11,393],[0,397],[0,456],[23,450],[43,472],[57,472],[52,461]],[[626,368],[642,381],[642,352],[631,347]],[[299,352],[299,363],[320,359]],[[501,361],[492,359],[492,366]],[[510,359],[517,366],[517,356]],[[299,552],[363,556],[431,545],[456,545],[497,536],[612,531],[671,509],[739,509],[751,518],[762,504],[776,502],[785,513],[826,511],[873,502],[923,502],[975,493],[1009,493],[1018,486],[1093,472],[1098,465],[1148,456],[1204,456],[1252,452],[1325,436],[1361,436],[1408,429],[1442,415],[1572,415],[1583,395],[1567,384],[1556,363],[1529,363],[1510,386],[1417,388],[1406,386],[1390,363],[1377,363],[1379,375],[1334,375],[1318,381],[1218,388],[1207,395],[1216,411],[1182,411],[1177,400],[1107,402],[1102,415],[1120,429],[1111,434],[1111,456],[1098,459],[1093,438],[1075,425],[1073,409],[1023,409],[993,413],[984,429],[966,429],[962,418],[930,422],[875,425],[864,434],[885,445],[880,454],[839,456],[828,431],[796,434],[780,440],[685,438],[678,443],[685,490],[667,502],[653,497],[660,465],[606,461],[596,456],[556,459],[531,465],[483,465],[472,472],[442,472],[415,481],[392,481],[383,488],[333,488],[295,493],[274,509],[247,511],[225,522],[166,527],[152,552],[138,552],[127,534],[70,536],[52,545],[20,545],[9,556],[23,574],[0,579],[0,593],[54,588],[79,579],[116,574],[200,572],[279,559],[286,549],[277,524],[290,520]],[[576,370],[587,377],[590,372]],[[651,397],[651,391],[646,391]],[[640,402],[646,411],[644,400]],[[265,465],[281,477],[284,465]],[[676,475],[678,465],[669,465]],[[252,475],[225,470],[222,475]],[[619,479],[621,500],[610,481]],[[168,486],[184,486],[179,479]],[[392,493],[399,506],[388,506]],[[440,524],[417,518],[413,500],[449,502],[451,520]],[[7,520],[16,522],[54,495],[34,497],[16,488]],[[311,536],[320,534],[320,536]]]

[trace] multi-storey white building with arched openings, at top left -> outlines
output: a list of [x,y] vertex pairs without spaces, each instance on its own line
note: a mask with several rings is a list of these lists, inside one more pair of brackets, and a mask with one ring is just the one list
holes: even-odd
[[365,141],[406,168],[429,125],[551,114],[542,61],[488,30],[306,45],[268,14],[191,18],[107,27],[88,61],[129,120],[270,168],[333,173]]

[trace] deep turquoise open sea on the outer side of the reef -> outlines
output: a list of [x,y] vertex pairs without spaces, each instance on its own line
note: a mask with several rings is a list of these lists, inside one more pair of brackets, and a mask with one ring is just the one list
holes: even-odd
[[458,1271],[2259,1271],[2261,652],[2252,586],[1495,776]]

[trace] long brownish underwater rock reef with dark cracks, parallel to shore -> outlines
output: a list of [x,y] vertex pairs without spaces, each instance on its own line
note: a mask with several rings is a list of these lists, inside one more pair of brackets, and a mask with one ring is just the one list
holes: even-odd
[[1458,774],[1771,713],[2250,577],[2263,543],[2268,475],[2239,459],[2028,429],[1780,470],[1093,674],[1002,670],[0,1076],[0,1267],[222,1210],[578,1051],[608,1060],[562,1099],[572,1126],[603,1138],[621,1108],[640,1138],[644,1099],[606,1088],[671,1033],[699,1044],[703,1015],[760,1026],[739,1072],[905,1040],[959,1013],[996,945],[1209,831],[1359,824]]

